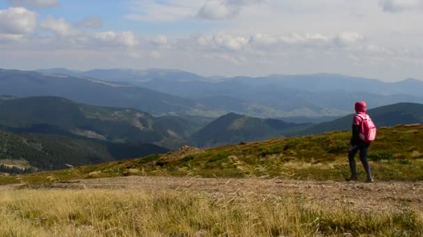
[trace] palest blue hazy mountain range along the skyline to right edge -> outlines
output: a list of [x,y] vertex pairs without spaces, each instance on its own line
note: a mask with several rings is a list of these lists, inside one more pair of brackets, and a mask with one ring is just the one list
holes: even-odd
[[[66,73],[65,69],[41,71]],[[214,117],[228,112],[262,118],[344,116],[351,112],[351,104],[360,99],[367,100],[370,108],[423,101],[423,81],[412,78],[400,82],[382,82],[319,73],[212,79],[175,69],[96,69],[72,75],[111,80],[114,83],[129,82],[193,100],[196,107],[189,113]]]

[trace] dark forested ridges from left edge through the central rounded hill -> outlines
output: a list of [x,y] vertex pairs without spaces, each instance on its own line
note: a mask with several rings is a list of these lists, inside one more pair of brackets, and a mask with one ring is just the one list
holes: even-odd
[[216,146],[285,137],[310,127],[278,119],[229,113],[212,121],[198,116],[152,116],[136,109],[99,107],[61,97],[0,96],[0,129],[17,133],[58,134],[113,143],[153,143],[169,149],[184,144]]

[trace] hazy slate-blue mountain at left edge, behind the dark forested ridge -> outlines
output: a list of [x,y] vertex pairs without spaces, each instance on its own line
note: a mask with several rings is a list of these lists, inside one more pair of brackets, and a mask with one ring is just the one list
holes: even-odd
[[129,107],[155,115],[189,114],[196,107],[193,100],[125,83],[5,69],[0,69],[0,94],[19,97],[61,96],[80,103]]

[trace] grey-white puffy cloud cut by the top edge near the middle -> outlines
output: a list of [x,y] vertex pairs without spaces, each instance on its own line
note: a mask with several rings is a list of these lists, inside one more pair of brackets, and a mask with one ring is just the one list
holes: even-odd
[[198,17],[209,20],[230,19],[239,15],[242,8],[264,3],[264,0],[207,0],[198,11]]

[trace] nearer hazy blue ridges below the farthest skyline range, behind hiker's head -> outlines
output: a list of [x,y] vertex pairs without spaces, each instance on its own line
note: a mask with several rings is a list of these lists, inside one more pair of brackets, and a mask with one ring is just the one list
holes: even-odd
[[249,85],[250,79],[244,79],[246,82],[241,79],[221,82],[154,80],[142,85],[163,93],[191,98],[202,105],[207,105],[209,109],[260,117],[344,116],[351,111],[351,104],[357,100],[366,100],[370,107],[423,101],[423,95],[422,97],[407,94],[382,95],[346,89],[308,91],[289,88],[282,83],[266,85],[257,82],[257,85]]

